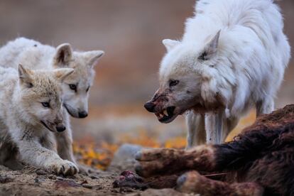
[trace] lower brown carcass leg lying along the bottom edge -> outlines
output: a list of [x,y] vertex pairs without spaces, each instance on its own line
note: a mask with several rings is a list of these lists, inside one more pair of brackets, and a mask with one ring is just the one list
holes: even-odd
[[180,192],[210,195],[261,196],[263,187],[257,183],[224,183],[210,180],[196,171],[185,173],[178,178],[177,189]]

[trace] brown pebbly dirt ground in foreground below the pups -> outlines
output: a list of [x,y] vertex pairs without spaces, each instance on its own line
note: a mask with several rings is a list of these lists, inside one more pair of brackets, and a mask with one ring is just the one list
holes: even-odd
[[113,188],[112,183],[118,175],[111,171],[97,171],[89,176],[78,174],[64,178],[36,168],[12,171],[0,167],[0,195],[186,195],[172,189]]

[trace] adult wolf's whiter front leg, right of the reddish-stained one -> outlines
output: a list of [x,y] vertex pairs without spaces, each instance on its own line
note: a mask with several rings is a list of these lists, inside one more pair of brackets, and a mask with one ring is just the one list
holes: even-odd
[[224,109],[217,113],[209,112],[205,115],[205,130],[207,143],[218,144],[222,143],[222,131],[226,115]]

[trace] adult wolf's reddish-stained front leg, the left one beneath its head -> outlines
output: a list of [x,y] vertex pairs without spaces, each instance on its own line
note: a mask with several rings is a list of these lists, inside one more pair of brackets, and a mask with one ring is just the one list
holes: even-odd
[[186,116],[186,124],[188,128],[186,149],[205,144],[205,115],[190,111]]

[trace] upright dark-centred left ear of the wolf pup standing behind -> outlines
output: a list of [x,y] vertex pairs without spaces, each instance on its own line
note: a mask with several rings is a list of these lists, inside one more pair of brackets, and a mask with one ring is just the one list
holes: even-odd
[[54,65],[56,67],[67,67],[72,60],[72,47],[69,43],[62,43],[56,48],[56,53],[54,57]]

